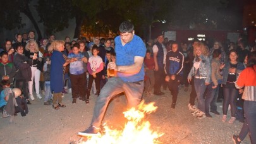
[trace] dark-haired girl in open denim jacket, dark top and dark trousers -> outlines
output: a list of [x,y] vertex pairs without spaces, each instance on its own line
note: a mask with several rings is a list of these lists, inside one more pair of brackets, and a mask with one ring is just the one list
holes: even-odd
[[222,87],[223,87],[223,105],[222,105],[222,121],[225,122],[227,119],[228,105],[231,106],[231,119],[228,123],[234,123],[236,120],[236,98],[238,97],[238,90],[235,88],[235,81],[245,66],[238,61],[238,52],[231,50],[229,52],[229,61],[221,64],[220,71],[222,75]]

